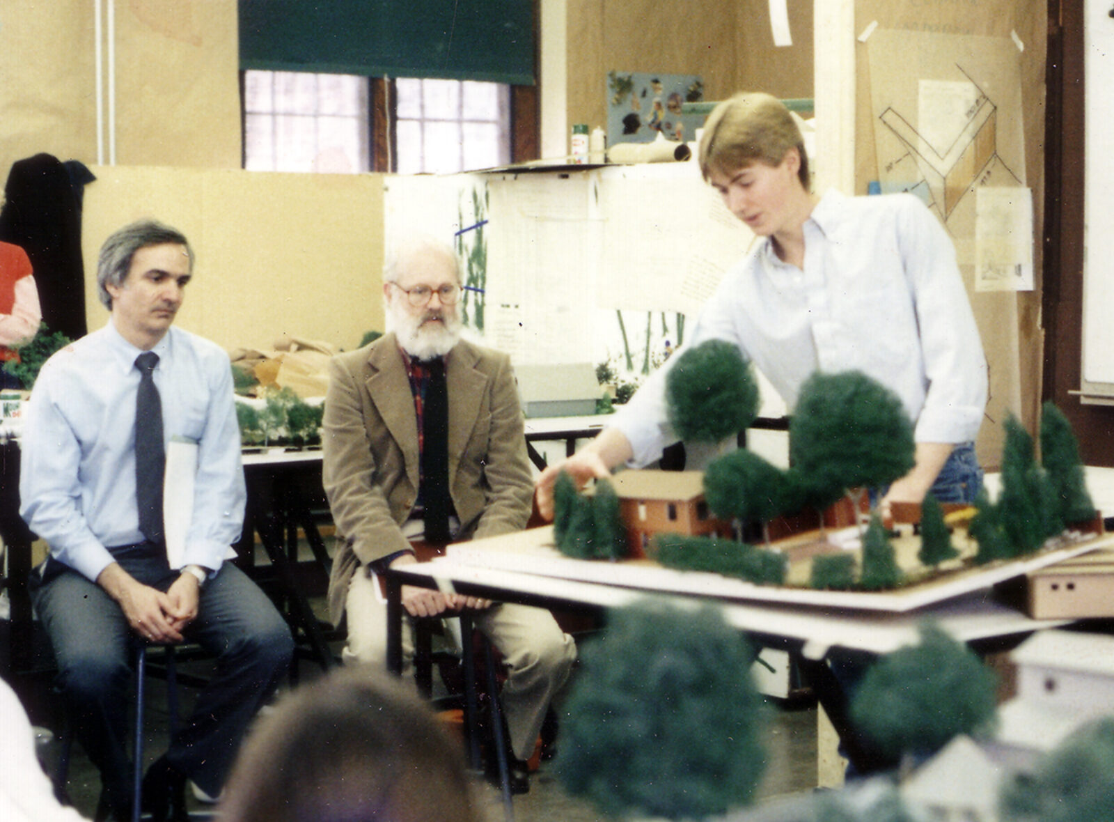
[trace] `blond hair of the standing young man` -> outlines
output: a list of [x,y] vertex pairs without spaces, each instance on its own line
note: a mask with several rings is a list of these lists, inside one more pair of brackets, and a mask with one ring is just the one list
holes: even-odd
[[706,180],[713,172],[731,173],[755,162],[776,166],[791,148],[801,155],[797,176],[809,190],[809,158],[793,115],[771,95],[737,94],[712,109],[704,123],[700,170]]

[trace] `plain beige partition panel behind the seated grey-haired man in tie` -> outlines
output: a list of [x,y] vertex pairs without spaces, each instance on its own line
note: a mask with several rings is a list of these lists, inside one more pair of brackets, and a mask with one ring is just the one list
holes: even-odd
[[196,253],[178,325],[225,349],[283,334],[356,346],[382,330],[383,178],[153,167],[92,169],[82,247],[89,327],[107,312],[96,260],[113,231],[155,217]]

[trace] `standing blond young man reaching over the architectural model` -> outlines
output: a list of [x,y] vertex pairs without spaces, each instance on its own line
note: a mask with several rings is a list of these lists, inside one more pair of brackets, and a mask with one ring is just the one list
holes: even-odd
[[[775,98],[742,94],[709,115],[701,172],[762,242],[732,267],[690,340],[726,340],[754,362],[792,413],[814,371],[863,371],[901,398],[915,423],[916,466],[882,500],[973,501],[981,486],[974,440],[987,368],[956,253],[939,221],[909,194],[848,197],[810,192],[792,115]],[[537,481],[553,516],[560,471],[577,481],[656,460],[668,425],[671,358],[593,442]]]

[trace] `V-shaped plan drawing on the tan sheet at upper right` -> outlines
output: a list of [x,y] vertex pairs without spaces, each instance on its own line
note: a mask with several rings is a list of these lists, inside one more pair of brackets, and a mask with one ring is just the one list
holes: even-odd
[[967,78],[964,86],[969,84],[969,91],[964,94],[966,89],[961,89],[957,96],[974,99],[962,111],[962,123],[949,144],[942,147],[935,145],[930,137],[891,106],[887,106],[879,116],[908,149],[928,187],[930,204],[939,211],[945,222],[995,159],[1014,178],[1015,185],[1022,184],[1017,174],[998,156],[998,106],[961,66],[957,68]]

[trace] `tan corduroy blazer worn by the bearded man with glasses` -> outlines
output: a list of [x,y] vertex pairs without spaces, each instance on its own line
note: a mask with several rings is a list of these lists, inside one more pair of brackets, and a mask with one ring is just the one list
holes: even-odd
[[[510,359],[461,341],[446,382],[457,539],[525,528],[534,481]],[[329,610],[339,623],[356,568],[409,546],[400,526],[418,497],[418,415],[394,334],[330,362],[322,444],[338,536]]]

